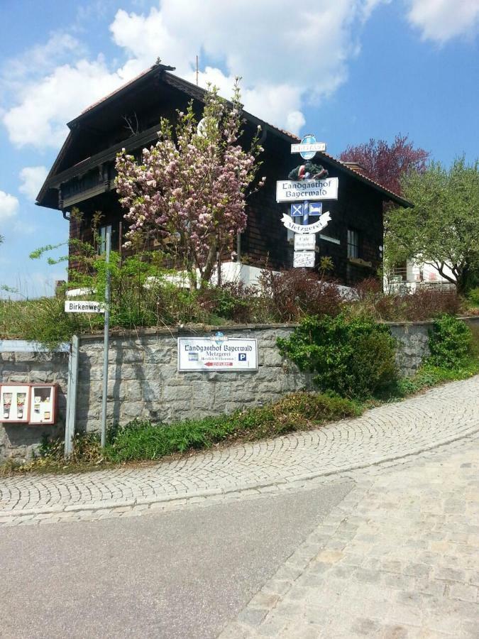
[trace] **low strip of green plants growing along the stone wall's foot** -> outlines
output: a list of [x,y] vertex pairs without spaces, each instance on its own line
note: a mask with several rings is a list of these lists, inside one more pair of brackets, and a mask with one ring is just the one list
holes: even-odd
[[331,420],[357,417],[363,407],[334,395],[298,392],[279,402],[259,408],[236,411],[232,415],[184,420],[170,425],[133,420],[112,426],[107,445],[101,450],[97,433],[75,435],[72,457],[63,459],[64,442],[44,439],[38,457],[29,464],[0,467],[0,475],[11,471],[65,471],[88,469],[92,464],[118,464],[125,461],[155,460],[168,455],[207,449],[215,444],[233,444],[275,437],[287,432],[307,430]]

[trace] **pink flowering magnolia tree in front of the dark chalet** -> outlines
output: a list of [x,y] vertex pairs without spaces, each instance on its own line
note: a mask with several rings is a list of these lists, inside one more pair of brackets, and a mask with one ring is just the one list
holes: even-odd
[[211,279],[218,256],[233,253],[246,227],[246,195],[260,167],[259,127],[245,150],[242,124],[236,81],[230,104],[216,88],[207,91],[199,122],[192,102],[178,112],[175,129],[161,119],[158,143],[143,149],[141,161],[119,153],[116,190],[127,209],[127,245],[153,237],[192,283],[198,274],[202,285]]

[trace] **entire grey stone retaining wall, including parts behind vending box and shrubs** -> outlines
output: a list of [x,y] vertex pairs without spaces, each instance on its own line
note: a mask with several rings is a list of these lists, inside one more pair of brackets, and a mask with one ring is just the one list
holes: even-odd
[[[467,320],[479,328],[479,317]],[[397,363],[411,375],[429,354],[430,322],[392,323],[398,342]],[[177,337],[211,335],[219,328],[144,331],[111,337],[109,351],[108,420],[125,423],[133,417],[171,422],[187,417],[229,413],[237,408],[277,400],[285,393],[312,389],[312,376],[283,360],[277,337],[294,326],[221,327],[229,337],[258,339],[258,371],[244,373],[179,373]],[[0,343],[1,346],[1,343]],[[1,350],[1,349],[0,349]],[[0,424],[0,460],[28,457],[44,432],[62,434],[65,427],[67,354],[0,352],[1,379],[8,382],[58,383],[60,405],[55,427]],[[77,430],[98,430],[101,418],[103,337],[82,337],[79,353]]]

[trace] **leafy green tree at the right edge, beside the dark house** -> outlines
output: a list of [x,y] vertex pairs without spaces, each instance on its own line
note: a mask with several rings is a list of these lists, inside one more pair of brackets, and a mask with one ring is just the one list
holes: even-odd
[[449,169],[431,162],[403,176],[402,195],[414,206],[387,212],[385,250],[434,266],[465,293],[479,273],[479,160],[458,158]]

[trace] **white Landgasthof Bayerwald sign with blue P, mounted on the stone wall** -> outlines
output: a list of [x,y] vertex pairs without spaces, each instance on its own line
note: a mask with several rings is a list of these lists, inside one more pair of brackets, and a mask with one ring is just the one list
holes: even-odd
[[178,337],[178,371],[256,371],[258,340]]

